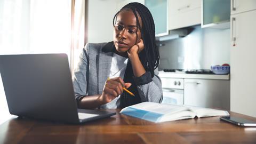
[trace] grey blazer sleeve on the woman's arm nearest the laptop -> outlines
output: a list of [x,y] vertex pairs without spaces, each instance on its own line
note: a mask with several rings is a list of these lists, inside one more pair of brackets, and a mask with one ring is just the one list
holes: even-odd
[[74,71],[73,86],[77,103],[87,94],[89,77],[89,44],[86,44],[79,56],[77,68]]

